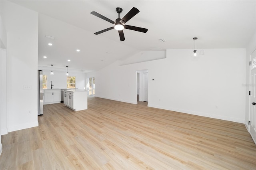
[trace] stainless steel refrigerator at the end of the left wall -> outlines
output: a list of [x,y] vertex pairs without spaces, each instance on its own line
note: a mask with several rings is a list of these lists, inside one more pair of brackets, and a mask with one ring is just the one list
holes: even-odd
[[43,71],[38,70],[38,113],[37,115],[43,115]]

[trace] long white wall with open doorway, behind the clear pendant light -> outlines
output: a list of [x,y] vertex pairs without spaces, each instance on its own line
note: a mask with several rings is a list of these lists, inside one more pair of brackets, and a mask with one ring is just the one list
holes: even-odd
[[136,103],[136,71],[148,69],[149,107],[244,123],[245,49],[204,49],[196,59],[191,50],[168,49],[166,59],[130,65],[117,61],[87,75],[95,77],[96,97]]

